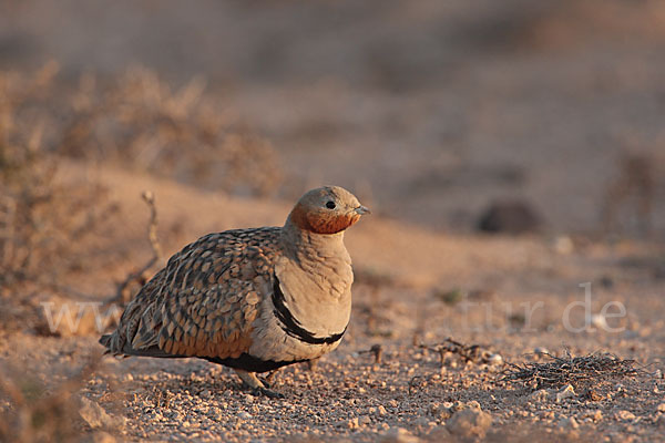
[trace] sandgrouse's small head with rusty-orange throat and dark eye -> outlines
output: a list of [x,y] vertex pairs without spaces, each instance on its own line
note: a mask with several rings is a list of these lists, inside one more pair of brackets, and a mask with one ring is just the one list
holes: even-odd
[[296,203],[290,220],[303,230],[315,234],[337,234],[370,210],[358,198],[339,186],[311,189]]

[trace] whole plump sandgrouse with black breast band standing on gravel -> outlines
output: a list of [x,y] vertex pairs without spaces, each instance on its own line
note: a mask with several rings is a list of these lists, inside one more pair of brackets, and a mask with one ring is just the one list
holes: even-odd
[[344,231],[369,209],[348,190],[306,193],[283,227],[208,234],[168,259],[100,339],[108,353],[198,357],[256,378],[339,344],[351,312]]

